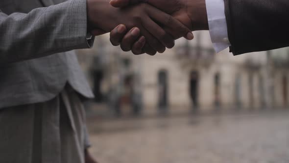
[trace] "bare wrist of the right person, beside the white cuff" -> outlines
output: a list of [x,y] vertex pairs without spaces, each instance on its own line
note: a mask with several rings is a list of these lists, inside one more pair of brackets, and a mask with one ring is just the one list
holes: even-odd
[[188,0],[187,13],[193,30],[209,30],[206,0]]

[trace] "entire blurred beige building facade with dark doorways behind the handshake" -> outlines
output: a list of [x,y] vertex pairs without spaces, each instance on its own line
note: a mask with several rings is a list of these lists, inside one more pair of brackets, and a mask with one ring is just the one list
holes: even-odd
[[96,102],[117,111],[141,109],[286,108],[289,102],[289,50],[233,56],[216,54],[207,31],[193,41],[155,56],[133,55],[113,47],[109,36],[79,50],[79,62],[96,94]]

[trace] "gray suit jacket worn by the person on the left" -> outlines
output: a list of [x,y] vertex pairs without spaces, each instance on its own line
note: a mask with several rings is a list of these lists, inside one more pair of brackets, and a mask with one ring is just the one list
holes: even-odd
[[63,1],[0,0],[0,109],[48,101],[67,82],[93,97],[71,51],[93,45],[86,0]]

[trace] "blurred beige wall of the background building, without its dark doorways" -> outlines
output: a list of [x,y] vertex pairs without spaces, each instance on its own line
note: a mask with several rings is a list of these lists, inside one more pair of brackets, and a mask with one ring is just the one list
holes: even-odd
[[[208,32],[200,31],[194,34],[195,39],[190,41],[190,46],[200,45],[203,49],[212,48]],[[96,46],[92,50],[80,51],[82,57],[86,56],[83,54],[90,54],[80,59],[84,70],[88,72],[89,67],[95,66],[91,61],[93,56],[103,55],[102,58],[105,60],[103,69],[106,73],[106,80],[103,84],[106,89],[104,90],[108,90],[108,87],[112,85],[111,83],[119,82],[120,74],[125,74],[126,71],[137,74],[140,77],[138,88],[142,93],[145,108],[156,109],[158,107],[158,73],[161,70],[168,72],[168,101],[169,106],[174,109],[188,109],[192,106],[189,92],[190,73],[192,71],[197,71],[199,74],[198,103],[200,109],[211,110],[216,108],[216,74],[220,76],[219,99],[220,106],[223,109],[269,107],[270,102],[268,101],[270,100],[268,99],[273,101],[274,106],[284,107],[282,80],[285,75],[288,79],[287,82],[289,82],[289,71],[286,67],[273,70],[274,89],[273,92],[270,92],[266,52],[233,56],[226,49],[218,54],[213,54],[213,57],[208,58],[209,60],[192,59],[190,57],[180,58],[179,53],[181,51],[179,49],[182,50],[186,41],[179,39],[176,41],[176,46],[167,50],[164,54],[156,54],[155,56],[132,55],[121,52],[119,47],[112,47],[108,35],[97,37],[96,44],[97,39],[102,41],[101,47]],[[131,60],[132,64],[129,70],[121,68],[120,60],[123,58]],[[92,79],[90,78],[90,80]],[[289,89],[289,83],[287,89]],[[289,94],[287,98],[287,101],[289,101]]]

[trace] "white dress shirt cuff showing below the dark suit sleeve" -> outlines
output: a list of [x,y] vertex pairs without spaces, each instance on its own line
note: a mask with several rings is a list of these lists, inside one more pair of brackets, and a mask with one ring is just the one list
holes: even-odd
[[231,46],[225,16],[224,0],[206,0],[208,24],[216,53]]

